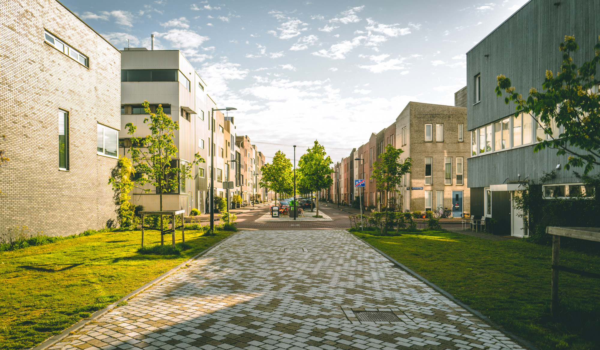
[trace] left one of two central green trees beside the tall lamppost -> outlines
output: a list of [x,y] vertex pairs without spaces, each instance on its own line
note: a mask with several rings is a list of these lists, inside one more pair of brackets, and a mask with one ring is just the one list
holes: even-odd
[[275,153],[272,163],[266,163],[260,167],[260,171],[262,179],[259,185],[274,191],[276,201],[277,194],[293,191],[292,161],[281,150]]

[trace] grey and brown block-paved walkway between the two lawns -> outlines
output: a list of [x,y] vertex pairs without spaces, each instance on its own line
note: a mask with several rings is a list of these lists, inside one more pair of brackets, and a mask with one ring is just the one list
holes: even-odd
[[242,231],[51,349],[520,349],[344,231]]

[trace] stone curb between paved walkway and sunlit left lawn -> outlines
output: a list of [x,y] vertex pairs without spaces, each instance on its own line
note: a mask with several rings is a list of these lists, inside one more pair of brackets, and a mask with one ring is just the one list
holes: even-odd
[[[233,234],[235,234],[235,233],[233,233]],[[212,251],[212,249],[217,248],[223,242],[230,239],[233,236],[233,234],[224,240],[220,240],[219,242],[215,243],[211,247],[206,248],[202,252],[196,254],[193,258],[190,258],[189,260],[182,262],[181,264],[177,265],[176,267],[173,267],[169,271],[161,274],[160,276],[156,277],[155,279],[151,280],[150,282],[146,283],[145,285],[141,286],[140,288],[137,288],[133,292],[125,295],[124,297],[115,301],[114,303],[107,305],[106,307],[104,307],[104,309],[101,309],[101,310],[98,310],[98,311],[92,313],[92,315],[89,316],[88,318],[82,319],[81,321],[79,321],[76,324],[72,325],[71,327],[65,329],[61,333],[56,334],[55,336],[52,336],[52,337],[44,340],[39,345],[36,345],[33,348],[29,348],[29,349],[30,350],[44,350],[44,349],[47,349],[50,346],[54,345],[55,343],[58,343],[63,338],[69,336],[71,334],[71,332],[74,332],[74,331],[78,330],[79,328],[82,328],[84,325],[88,324],[89,322],[95,321],[96,319],[104,316],[107,312],[114,309],[118,303],[121,303],[121,301],[127,301],[130,298],[133,298],[135,295],[139,294],[140,292],[145,291],[146,289],[150,288],[151,286],[154,286],[156,283],[160,282],[161,280],[165,279],[166,277],[169,277],[171,274],[175,273],[180,268],[185,267],[185,265],[189,264],[192,260],[195,260],[196,258],[200,257],[200,255],[207,254],[208,252]]]

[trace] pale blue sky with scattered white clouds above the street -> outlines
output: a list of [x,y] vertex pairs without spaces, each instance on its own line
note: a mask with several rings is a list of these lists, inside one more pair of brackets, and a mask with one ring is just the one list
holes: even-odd
[[454,105],[466,52],[527,0],[61,2],[118,49],[181,50],[265,156],[337,162],[409,101]]

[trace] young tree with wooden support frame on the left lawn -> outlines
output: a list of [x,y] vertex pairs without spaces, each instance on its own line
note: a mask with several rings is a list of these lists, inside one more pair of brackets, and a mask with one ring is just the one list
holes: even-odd
[[[177,155],[177,147],[173,141],[175,130],[179,129],[179,123],[173,122],[170,116],[163,113],[162,105],[158,105],[156,113],[152,113],[148,101],[143,102],[144,110],[149,117],[144,119],[148,123],[148,128],[152,132],[146,137],[132,137],[133,146],[129,152],[131,161],[136,173],[144,174],[137,177],[134,182],[139,186],[146,184],[155,187],[157,194],[160,194],[160,210],[163,210],[163,193],[175,191],[179,186],[179,179],[191,179],[190,171],[194,165],[205,162],[200,153],[194,155],[193,161],[188,164],[178,164],[173,158]],[[125,128],[127,134],[133,135],[136,132],[136,126],[133,123],[127,123]],[[140,188],[137,187],[136,188]],[[151,192],[151,189],[143,189],[144,192]],[[161,222],[163,216],[161,215]],[[162,226],[162,225],[161,225]],[[162,230],[162,227],[161,227]]]

